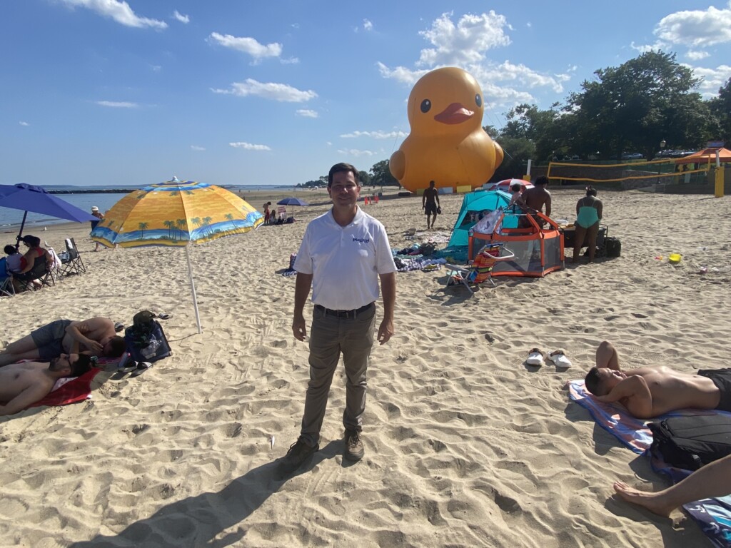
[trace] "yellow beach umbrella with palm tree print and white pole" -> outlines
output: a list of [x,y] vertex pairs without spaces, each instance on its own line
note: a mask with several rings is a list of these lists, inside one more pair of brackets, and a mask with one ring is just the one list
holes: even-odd
[[195,319],[201,333],[188,245],[243,234],[263,221],[259,211],[231,191],[173,177],[120,199],[91,231],[91,239],[107,247],[184,247]]

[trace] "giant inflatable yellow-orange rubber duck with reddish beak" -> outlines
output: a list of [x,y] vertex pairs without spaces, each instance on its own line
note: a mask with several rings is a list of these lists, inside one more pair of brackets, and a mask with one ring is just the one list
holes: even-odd
[[415,192],[487,183],[503,151],[482,129],[485,102],[477,80],[454,66],[423,75],[409,95],[411,133],[389,161],[401,186]]

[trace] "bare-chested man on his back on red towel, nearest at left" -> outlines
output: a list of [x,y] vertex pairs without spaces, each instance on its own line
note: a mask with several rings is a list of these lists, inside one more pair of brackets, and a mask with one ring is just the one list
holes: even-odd
[[90,366],[91,357],[86,354],[61,354],[50,364],[24,362],[1,368],[0,416],[23,411],[48,395],[59,378],[81,376]]

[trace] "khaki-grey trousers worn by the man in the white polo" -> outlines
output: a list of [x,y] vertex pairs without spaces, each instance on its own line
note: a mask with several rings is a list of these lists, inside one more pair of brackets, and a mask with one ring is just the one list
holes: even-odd
[[366,410],[366,373],[375,324],[375,305],[352,319],[314,309],[310,330],[310,381],[300,433],[311,446],[319,443],[327,395],[340,354],[343,354],[346,375],[343,426],[346,430],[360,430]]

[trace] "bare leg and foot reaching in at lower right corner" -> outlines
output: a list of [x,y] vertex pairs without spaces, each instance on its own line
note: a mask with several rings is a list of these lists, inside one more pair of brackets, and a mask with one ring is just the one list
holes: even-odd
[[731,455],[699,468],[682,482],[662,491],[640,491],[624,482],[615,482],[614,490],[627,502],[669,517],[682,504],[731,494]]

